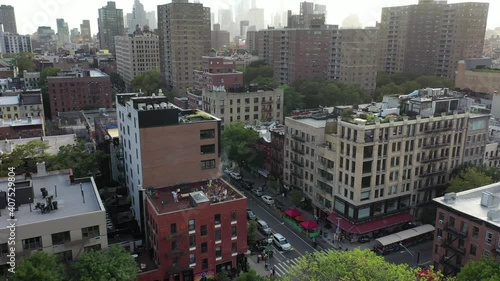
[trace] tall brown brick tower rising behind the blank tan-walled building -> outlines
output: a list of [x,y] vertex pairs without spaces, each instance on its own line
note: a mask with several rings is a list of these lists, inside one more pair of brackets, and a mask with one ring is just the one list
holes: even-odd
[[210,51],[210,8],[188,0],[158,5],[160,70],[166,85],[180,95],[193,86],[193,70]]

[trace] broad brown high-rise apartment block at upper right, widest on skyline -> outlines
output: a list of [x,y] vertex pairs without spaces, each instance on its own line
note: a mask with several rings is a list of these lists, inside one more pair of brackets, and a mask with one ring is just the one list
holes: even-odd
[[419,0],[383,8],[379,70],[454,79],[458,61],[482,56],[488,7]]

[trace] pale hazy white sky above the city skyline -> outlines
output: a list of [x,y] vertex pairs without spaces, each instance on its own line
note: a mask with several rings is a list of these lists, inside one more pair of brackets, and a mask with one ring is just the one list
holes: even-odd
[[[234,8],[241,0],[200,0],[209,6],[212,12],[218,9]],[[251,0],[249,0],[251,2]],[[255,0],[258,8],[264,8],[266,20],[270,22],[272,14],[284,9],[299,12],[300,0]],[[311,1],[311,0],[310,0]],[[474,0],[448,0],[448,3],[472,2]],[[83,19],[90,20],[92,33],[97,33],[97,10],[106,5],[106,0],[2,0],[2,4],[14,6],[18,32],[31,34],[38,26],[48,25],[56,30],[56,18],[64,18],[69,28],[80,28]],[[134,0],[116,0],[123,13],[130,13]],[[171,2],[170,0],[142,0],[146,11],[156,11],[156,6]],[[193,0],[190,0],[193,2]],[[373,26],[380,21],[382,7],[416,4],[418,0],[317,0],[318,4],[327,4],[327,23],[341,25],[343,20],[353,14],[359,17],[363,26]],[[500,0],[481,0],[490,3],[488,28],[500,27]],[[57,30],[56,30],[57,32]]]

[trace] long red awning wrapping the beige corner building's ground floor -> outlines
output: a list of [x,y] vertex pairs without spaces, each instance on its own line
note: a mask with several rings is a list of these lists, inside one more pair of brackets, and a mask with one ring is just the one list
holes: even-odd
[[328,216],[328,220],[332,222],[334,225],[337,225],[337,222],[339,221],[337,218],[340,218],[340,227],[349,232],[349,233],[354,233],[354,234],[364,234],[368,233],[371,231],[379,230],[382,228],[386,227],[391,227],[394,225],[398,225],[401,223],[409,222],[413,220],[413,216],[405,213],[405,214],[399,214],[399,215],[394,215],[386,218],[381,218],[381,219],[375,219],[370,222],[365,222],[361,224],[353,224],[350,221],[347,221],[343,217],[331,213]]

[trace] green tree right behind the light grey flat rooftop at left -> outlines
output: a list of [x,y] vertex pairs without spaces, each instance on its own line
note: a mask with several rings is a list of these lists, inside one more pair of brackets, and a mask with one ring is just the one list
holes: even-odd
[[88,177],[96,172],[106,154],[101,150],[89,151],[84,141],[64,145],[59,153],[50,161],[51,169],[73,169],[75,178]]

